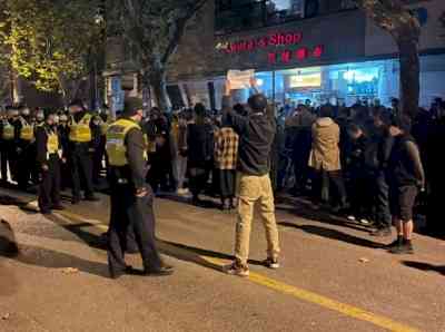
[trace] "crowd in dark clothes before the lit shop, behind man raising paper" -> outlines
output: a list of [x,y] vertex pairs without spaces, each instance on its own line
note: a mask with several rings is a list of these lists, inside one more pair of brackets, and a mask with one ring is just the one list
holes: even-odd
[[[390,207],[396,203],[390,197],[399,197],[408,201],[402,202],[405,209],[415,205],[416,212],[427,212],[432,232],[443,231],[438,214],[444,177],[438,159],[445,135],[442,99],[428,110],[421,108],[415,118],[402,114],[397,99],[389,108],[378,100],[352,107],[313,107],[307,101],[295,108],[270,108],[277,126],[270,177],[277,194],[308,196],[350,219],[374,225],[373,235],[390,234]],[[234,111],[247,115],[240,104]],[[148,180],[155,191],[179,195],[189,191],[196,205],[207,193],[220,197],[221,208],[234,208],[239,137],[231,125],[224,113],[207,111],[200,104],[171,115],[152,109],[145,127],[152,141]],[[407,156],[405,152],[395,156],[399,140],[407,140]],[[413,164],[397,165],[396,157],[413,158]],[[389,195],[397,191],[395,172],[403,173],[397,175],[399,187],[414,184],[419,194]],[[412,213],[406,214],[412,218]]]

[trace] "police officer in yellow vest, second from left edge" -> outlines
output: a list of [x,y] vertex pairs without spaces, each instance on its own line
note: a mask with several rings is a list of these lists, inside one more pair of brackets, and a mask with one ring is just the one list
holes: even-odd
[[19,189],[27,191],[31,178],[32,165],[34,163],[33,144],[34,128],[31,121],[30,109],[26,106],[19,107],[20,111],[20,134],[18,146],[18,186]]

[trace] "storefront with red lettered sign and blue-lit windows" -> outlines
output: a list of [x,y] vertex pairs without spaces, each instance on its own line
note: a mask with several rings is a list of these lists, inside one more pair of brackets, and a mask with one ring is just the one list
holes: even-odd
[[[421,38],[421,106],[445,96],[445,39],[438,17],[444,3],[432,1],[416,7],[423,20]],[[441,8],[436,8],[441,7]],[[442,39],[441,39],[442,38]],[[397,48],[386,32],[375,28],[360,11],[348,11],[215,37],[212,71],[206,79],[176,81],[185,99],[220,108],[225,74],[229,69],[255,69],[257,85],[275,101],[315,105],[357,99],[389,105],[399,96]],[[237,91],[237,101],[246,101],[248,90]]]

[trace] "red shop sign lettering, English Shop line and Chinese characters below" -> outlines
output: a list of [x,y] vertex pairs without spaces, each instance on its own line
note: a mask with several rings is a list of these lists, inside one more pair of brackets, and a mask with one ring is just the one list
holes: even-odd
[[[258,38],[244,39],[237,41],[221,41],[216,46],[217,49],[228,53],[254,52],[268,48],[267,59],[269,65],[289,64],[291,61],[304,61],[310,58],[322,58],[325,49],[323,45],[314,48],[300,47],[298,49],[278,49],[291,47],[303,41],[301,32],[274,32]],[[271,49],[277,48],[276,50]]]

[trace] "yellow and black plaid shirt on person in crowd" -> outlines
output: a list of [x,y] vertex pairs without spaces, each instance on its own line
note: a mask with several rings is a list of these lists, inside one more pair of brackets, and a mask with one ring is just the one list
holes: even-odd
[[239,137],[234,129],[224,127],[215,133],[215,167],[236,169],[238,162]]

